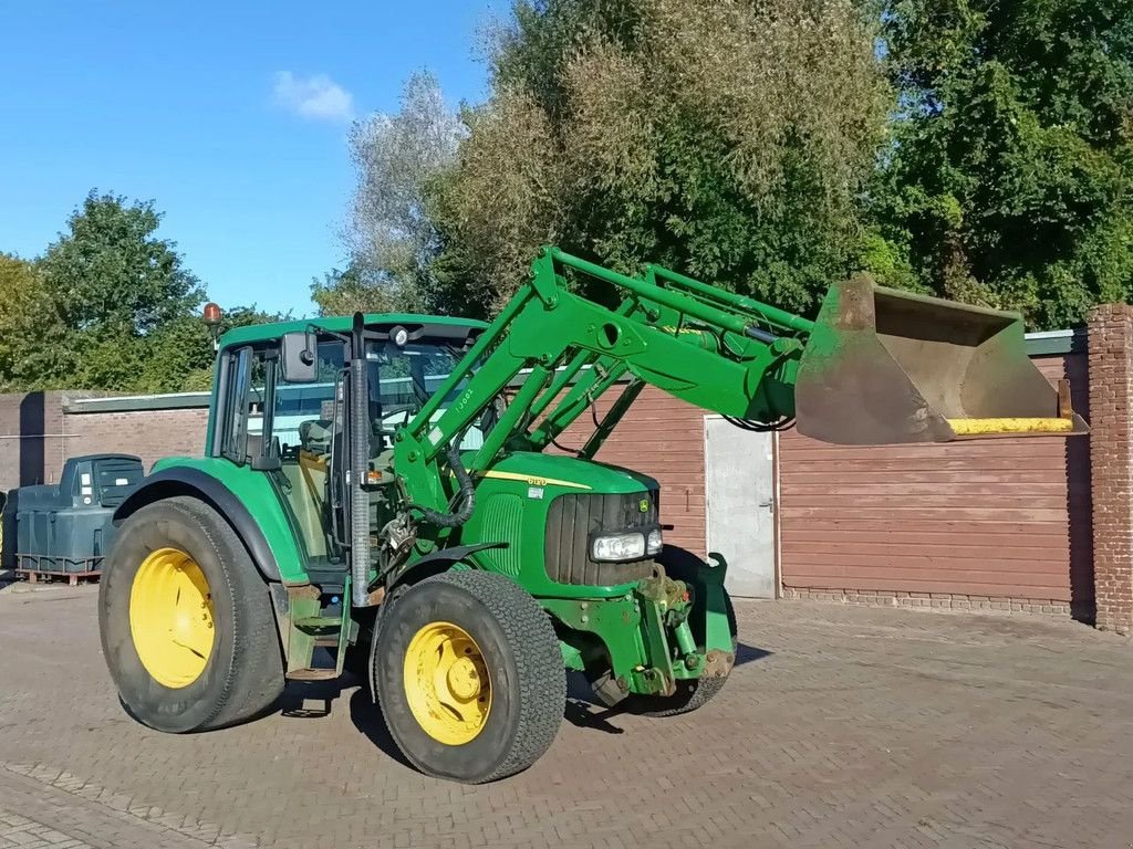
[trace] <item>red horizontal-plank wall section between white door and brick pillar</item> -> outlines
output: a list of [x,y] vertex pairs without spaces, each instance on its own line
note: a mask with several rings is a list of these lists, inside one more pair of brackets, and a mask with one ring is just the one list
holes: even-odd
[[[1051,383],[1071,379],[1079,409],[1082,360],[1036,360]],[[784,434],[783,585],[867,599],[884,592],[925,606],[937,595],[937,607],[944,595],[976,606],[1073,602],[1089,616],[1092,586],[1088,565],[1081,568],[1090,557],[1089,478],[1072,468],[1074,441],[857,447]]]

